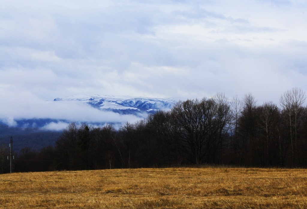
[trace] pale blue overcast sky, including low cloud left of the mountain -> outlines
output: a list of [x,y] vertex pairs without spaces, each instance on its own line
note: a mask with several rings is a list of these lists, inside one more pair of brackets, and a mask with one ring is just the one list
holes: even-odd
[[307,91],[306,11],[305,0],[1,0],[0,118],[136,120],[52,103],[76,94],[278,104]]

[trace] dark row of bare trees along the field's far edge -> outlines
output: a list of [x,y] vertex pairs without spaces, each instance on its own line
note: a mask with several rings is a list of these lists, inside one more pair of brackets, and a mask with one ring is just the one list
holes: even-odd
[[[177,102],[144,120],[91,127],[71,123],[55,146],[24,148],[15,171],[87,170],[232,165],[307,167],[305,92],[286,91],[279,100],[257,105],[224,93]],[[0,158],[1,160],[1,158]]]

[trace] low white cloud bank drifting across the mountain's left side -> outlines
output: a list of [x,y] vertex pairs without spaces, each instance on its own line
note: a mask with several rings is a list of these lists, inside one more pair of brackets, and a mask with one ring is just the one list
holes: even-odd
[[[0,89],[1,90],[1,89]],[[101,111],[83,103],[65,101],[41,101],[35,95],[20,91],[15,93],[15,89],[6,88],[0,91],[0,115],[2,122],[14,126],[18,119],[50,118],[65,121],[82,121],[88,123],[124,123],[126,121],[135,122],[142,117],[134,115],[120,115],[109,111]],[[46,125],[50,129],[55,125],[63,127],[64,123]]]

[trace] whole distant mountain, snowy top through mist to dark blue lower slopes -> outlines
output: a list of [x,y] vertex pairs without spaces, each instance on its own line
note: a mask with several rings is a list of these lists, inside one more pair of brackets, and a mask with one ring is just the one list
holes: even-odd
[[168,110],[175,102],[171,98],[105,95],[56,98],[36,109],[29,108],[26,115],[0,118],[0,144],[8,144],[13,136],[14,150],[25,147],[40,150],[54,145],[61,131],[71,122],[91,126],[112,124],[119,128],[127,121],[135,122],[157,110]]

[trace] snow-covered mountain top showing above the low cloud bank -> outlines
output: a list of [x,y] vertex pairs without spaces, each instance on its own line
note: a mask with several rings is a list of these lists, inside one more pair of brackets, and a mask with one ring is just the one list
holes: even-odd
[[87,103],[99,110],[108,110],[120,114],[154,113],[157,110],[168,110],[176,103],[172,98],[107,95],[73,95],[64,98],[56,98],[53,101],[76,101]]

